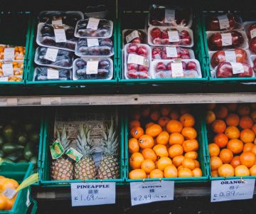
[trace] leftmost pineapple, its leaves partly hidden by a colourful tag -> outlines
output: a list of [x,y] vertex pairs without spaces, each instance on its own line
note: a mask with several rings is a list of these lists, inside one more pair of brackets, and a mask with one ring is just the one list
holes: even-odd
[[[56,129],[57,137],[60,139],[60,143],[63,149],[67,151],[70,148],[70,140],[68,140],[66,127],[63,126],[61,132]],[[69,159],[63,158],[61,156],[52,162],[50,166],[50,176],[54,181],[67,181],[73,180],[73,163]]]

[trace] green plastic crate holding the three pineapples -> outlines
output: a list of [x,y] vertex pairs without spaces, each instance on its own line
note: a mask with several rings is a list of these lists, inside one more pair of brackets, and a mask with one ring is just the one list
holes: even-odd
[[70,183],[79,182],[116,182],[118,185],[124,183],[124,121],[119,114],[119,178],[117,179],[94,179],[94,180],[70,180],[70,181],[51,181],[50,180],[50,144],[53,142],[55,114],[49,114],[44,124],[43,146],[41,156],[40,183],[47,187],[70,186]]

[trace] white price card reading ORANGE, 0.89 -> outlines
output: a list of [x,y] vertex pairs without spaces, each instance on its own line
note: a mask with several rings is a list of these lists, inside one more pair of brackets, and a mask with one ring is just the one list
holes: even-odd
[[211,182],[210,202],[244,200],[253,197],[255,179],[234,179]]

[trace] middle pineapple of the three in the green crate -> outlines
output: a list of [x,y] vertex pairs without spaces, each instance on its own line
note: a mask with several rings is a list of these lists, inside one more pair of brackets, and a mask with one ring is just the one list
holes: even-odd
[[97,178],[97,167],[95,161],[92,159],[92,154],[95,148],[90,144],[90,129],[80,125],[80,132],[78,134],[77,150],[83,155],[82,159],[75,163],[75,179],[87,180]]

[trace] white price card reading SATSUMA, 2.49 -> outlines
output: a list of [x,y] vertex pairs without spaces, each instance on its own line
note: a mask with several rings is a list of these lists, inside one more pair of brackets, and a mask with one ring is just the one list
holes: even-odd
[[174,200],[174,181],[131,182],[130,191],[132,205]]

